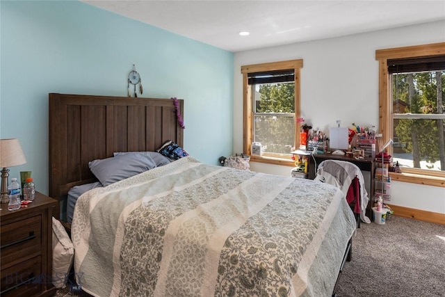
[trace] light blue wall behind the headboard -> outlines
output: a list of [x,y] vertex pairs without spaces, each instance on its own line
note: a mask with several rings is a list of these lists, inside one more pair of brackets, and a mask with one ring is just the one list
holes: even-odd
[[[184,99],[184,148],[206,163],[232,152],[233,54],[79,1],[1,1],[0,137],[19,138],[48,193],[48,93]],[[168,16],[165,16],[168,17]]]

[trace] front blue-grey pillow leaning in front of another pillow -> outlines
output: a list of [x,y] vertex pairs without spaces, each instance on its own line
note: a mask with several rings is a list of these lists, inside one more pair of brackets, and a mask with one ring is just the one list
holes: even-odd
[[88,163],[88,166],[90,166],[92,174],[99,179],[99,182],[108,186],[155,168],[156,164],[149,156],[124,154],[106,159],[97,159]]

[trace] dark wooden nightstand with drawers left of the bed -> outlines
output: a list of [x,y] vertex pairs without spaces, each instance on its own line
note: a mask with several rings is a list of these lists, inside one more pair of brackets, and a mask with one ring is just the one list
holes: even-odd
[[0,204],[0,295],[53,296],[52,216],[56,200],[35,192],[28,207]]

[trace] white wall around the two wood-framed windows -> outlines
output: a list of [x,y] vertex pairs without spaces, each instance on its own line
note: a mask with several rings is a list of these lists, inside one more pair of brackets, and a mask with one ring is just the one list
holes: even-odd
[[[301,106],[305,121],[328,131],[342,127],[378,128],[378,62],[375,50],[445,41],[445,22],[300,42],[234,54],[234,152],[243,150],[241,66],[302,58]],[[251,163],[254,171],[289,176],[290,167]],[[445,214],[445,188],[392,182],[391,202]]]

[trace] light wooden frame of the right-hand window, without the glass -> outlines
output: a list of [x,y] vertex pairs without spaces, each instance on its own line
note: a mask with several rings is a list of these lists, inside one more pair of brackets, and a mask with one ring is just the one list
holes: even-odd
[[[391,138],[393,131],[388,60],[442,55],[445,55],[445,42],[414,45],[410,47],[396,47],[392,49],[378,49],[375,51],[375,60],[377,60],[379,64],[379,132],[382,134],[382,143],[386,143],[389,138]],[[389,154],[392,154],[392,147],[388,147],[388,151]],[[402,173],[390,172],[390,175],[391,179],[399,182],[445,187],[444,170],[435,171],[419,168],[403,168]]]

